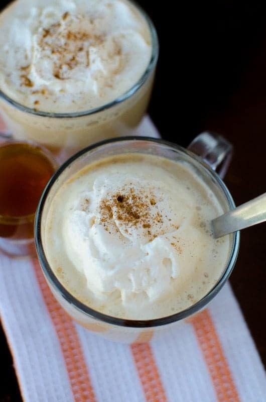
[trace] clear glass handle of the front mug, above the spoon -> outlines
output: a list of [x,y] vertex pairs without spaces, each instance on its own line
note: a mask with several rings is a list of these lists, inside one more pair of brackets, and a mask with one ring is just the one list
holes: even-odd
[[201,156],[221,178],[225,176],[232,158],[233,146],[224,137],[204,131],[190,143],[188,149]]

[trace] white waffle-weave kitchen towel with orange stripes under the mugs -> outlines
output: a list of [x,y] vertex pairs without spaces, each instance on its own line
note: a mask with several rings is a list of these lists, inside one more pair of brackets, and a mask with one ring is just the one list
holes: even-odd
[[[147,118],[141,133],[157,135]],[[73,322],[37,258],[0,255],[0,314],[26,402],[266,401],[265,373],[229,283],[163,338],[128,346]]]

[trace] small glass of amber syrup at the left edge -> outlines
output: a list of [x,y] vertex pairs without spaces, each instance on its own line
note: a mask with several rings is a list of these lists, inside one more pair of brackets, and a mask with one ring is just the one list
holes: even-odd
[[5,254],[34,253],[35,212],[57,167],[52,154],[39,145],[0,144],[0,250]]

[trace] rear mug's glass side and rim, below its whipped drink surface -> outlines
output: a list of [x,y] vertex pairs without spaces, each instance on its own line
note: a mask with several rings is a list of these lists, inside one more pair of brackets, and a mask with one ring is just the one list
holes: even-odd
[[147,22],[152,42],[151,60],[139,81],[111,102],[78,113],[36,111],[15,102],[0,90],[0,113],[7,133],[20,141],[29,140],[48,148],[63,162],[89,144],[136,132],[150,100],[159,44],[149,16],[131,3]]

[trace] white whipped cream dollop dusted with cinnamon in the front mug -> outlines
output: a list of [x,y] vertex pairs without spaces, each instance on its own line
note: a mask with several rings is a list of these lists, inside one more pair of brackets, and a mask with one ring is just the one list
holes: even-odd
[[97,297],[117,291],[124,305],[160,297],[180,275],[171,243],[192,207],[183,198],[178,210],[175,191],[138,179],[121,173],[98,177],[92,191],[80,194],[63,227],[69,259],[88,287]]

